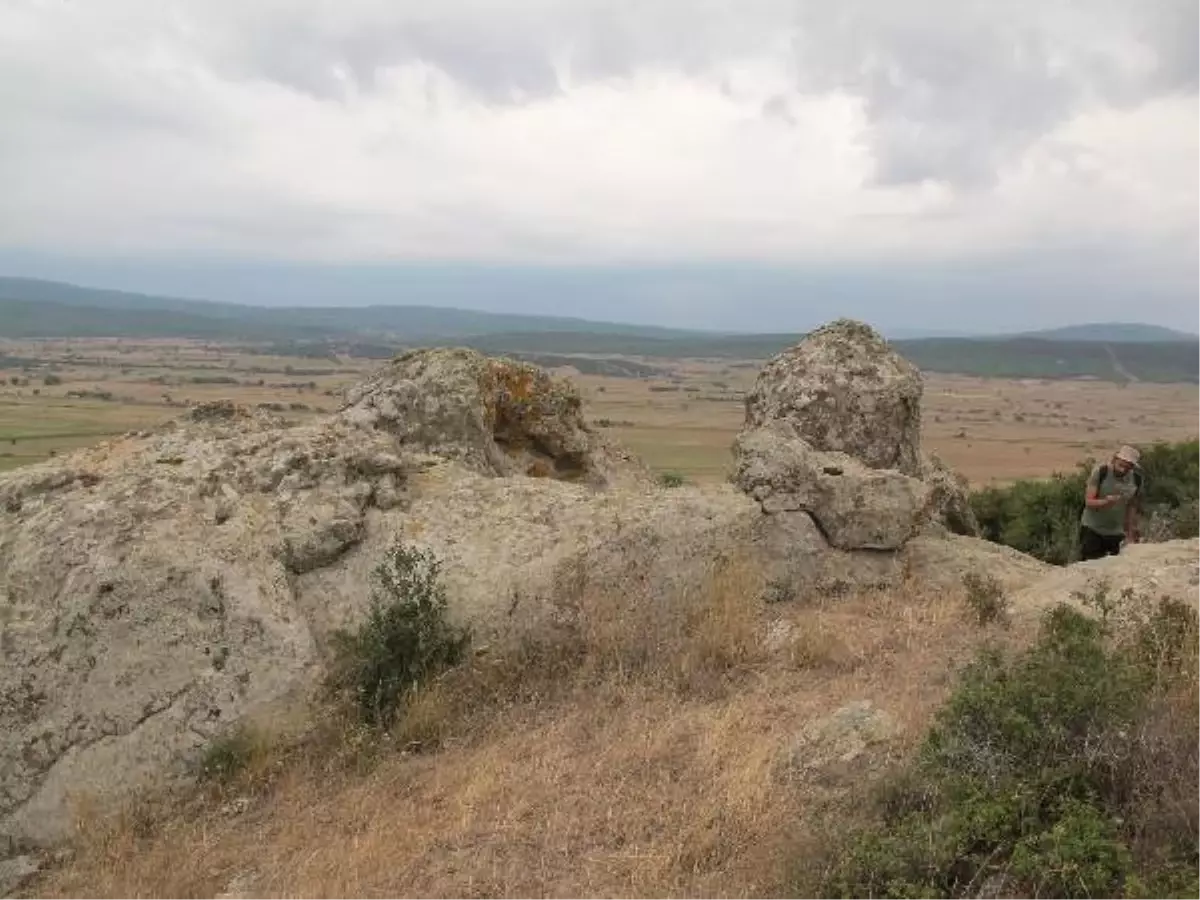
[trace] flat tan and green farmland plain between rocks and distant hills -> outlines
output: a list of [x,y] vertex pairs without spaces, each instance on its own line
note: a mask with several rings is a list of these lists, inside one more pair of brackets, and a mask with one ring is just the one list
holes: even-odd
[[[304,418],[337,407],[376,360],[260,355],[185,341],[0,342],[0,470],[230,398]],[[13,365],[12,360],[18,362]],[[589,418],[652,467],[725,478],[756,362],[642,360],[654,379],[578,374]],[[14,380],[16,379],[16,380]],[[1200,386],[926,376],[925,445],[974,485],[1046,475],[1118,442],[1200,436]]]

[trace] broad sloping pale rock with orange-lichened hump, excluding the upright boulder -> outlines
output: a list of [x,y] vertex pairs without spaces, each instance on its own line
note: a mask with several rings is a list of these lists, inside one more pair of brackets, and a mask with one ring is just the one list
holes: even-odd
[[211,403],[5,475],[0,841],[53,841],[73,798],[186,776],[230,725],[305,702],[397,539],[438,554],[487,644],[569,618],[564,571],[698,583],[760,517],[654,485],[569,384],[458,350],[310,425]]

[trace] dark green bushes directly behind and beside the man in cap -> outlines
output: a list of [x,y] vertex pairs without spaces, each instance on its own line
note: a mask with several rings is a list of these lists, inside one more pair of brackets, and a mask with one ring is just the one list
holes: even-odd
[[[1079,517],[1094,460],[1073,473],[989,487],[971,497],[983,536],[1064,565],[1079,557]],[[1200,440],[1158,443],[1142,452],[1142,511],[1151,539],[1200,535]]]

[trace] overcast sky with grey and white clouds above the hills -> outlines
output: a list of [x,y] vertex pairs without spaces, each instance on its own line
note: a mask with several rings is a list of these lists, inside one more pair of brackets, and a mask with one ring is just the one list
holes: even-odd
[[7,274],[1200,330],[1198,161],[1200,0],[0,0]]

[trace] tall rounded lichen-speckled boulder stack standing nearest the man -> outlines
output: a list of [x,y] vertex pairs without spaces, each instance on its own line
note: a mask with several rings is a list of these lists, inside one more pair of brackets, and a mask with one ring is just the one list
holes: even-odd
[[978,534],[966,482],[920,449],[918,370],[840,320],[772,359],[746,398],[733,482],[803,511],[841,550],[894,551],[930,523]]

